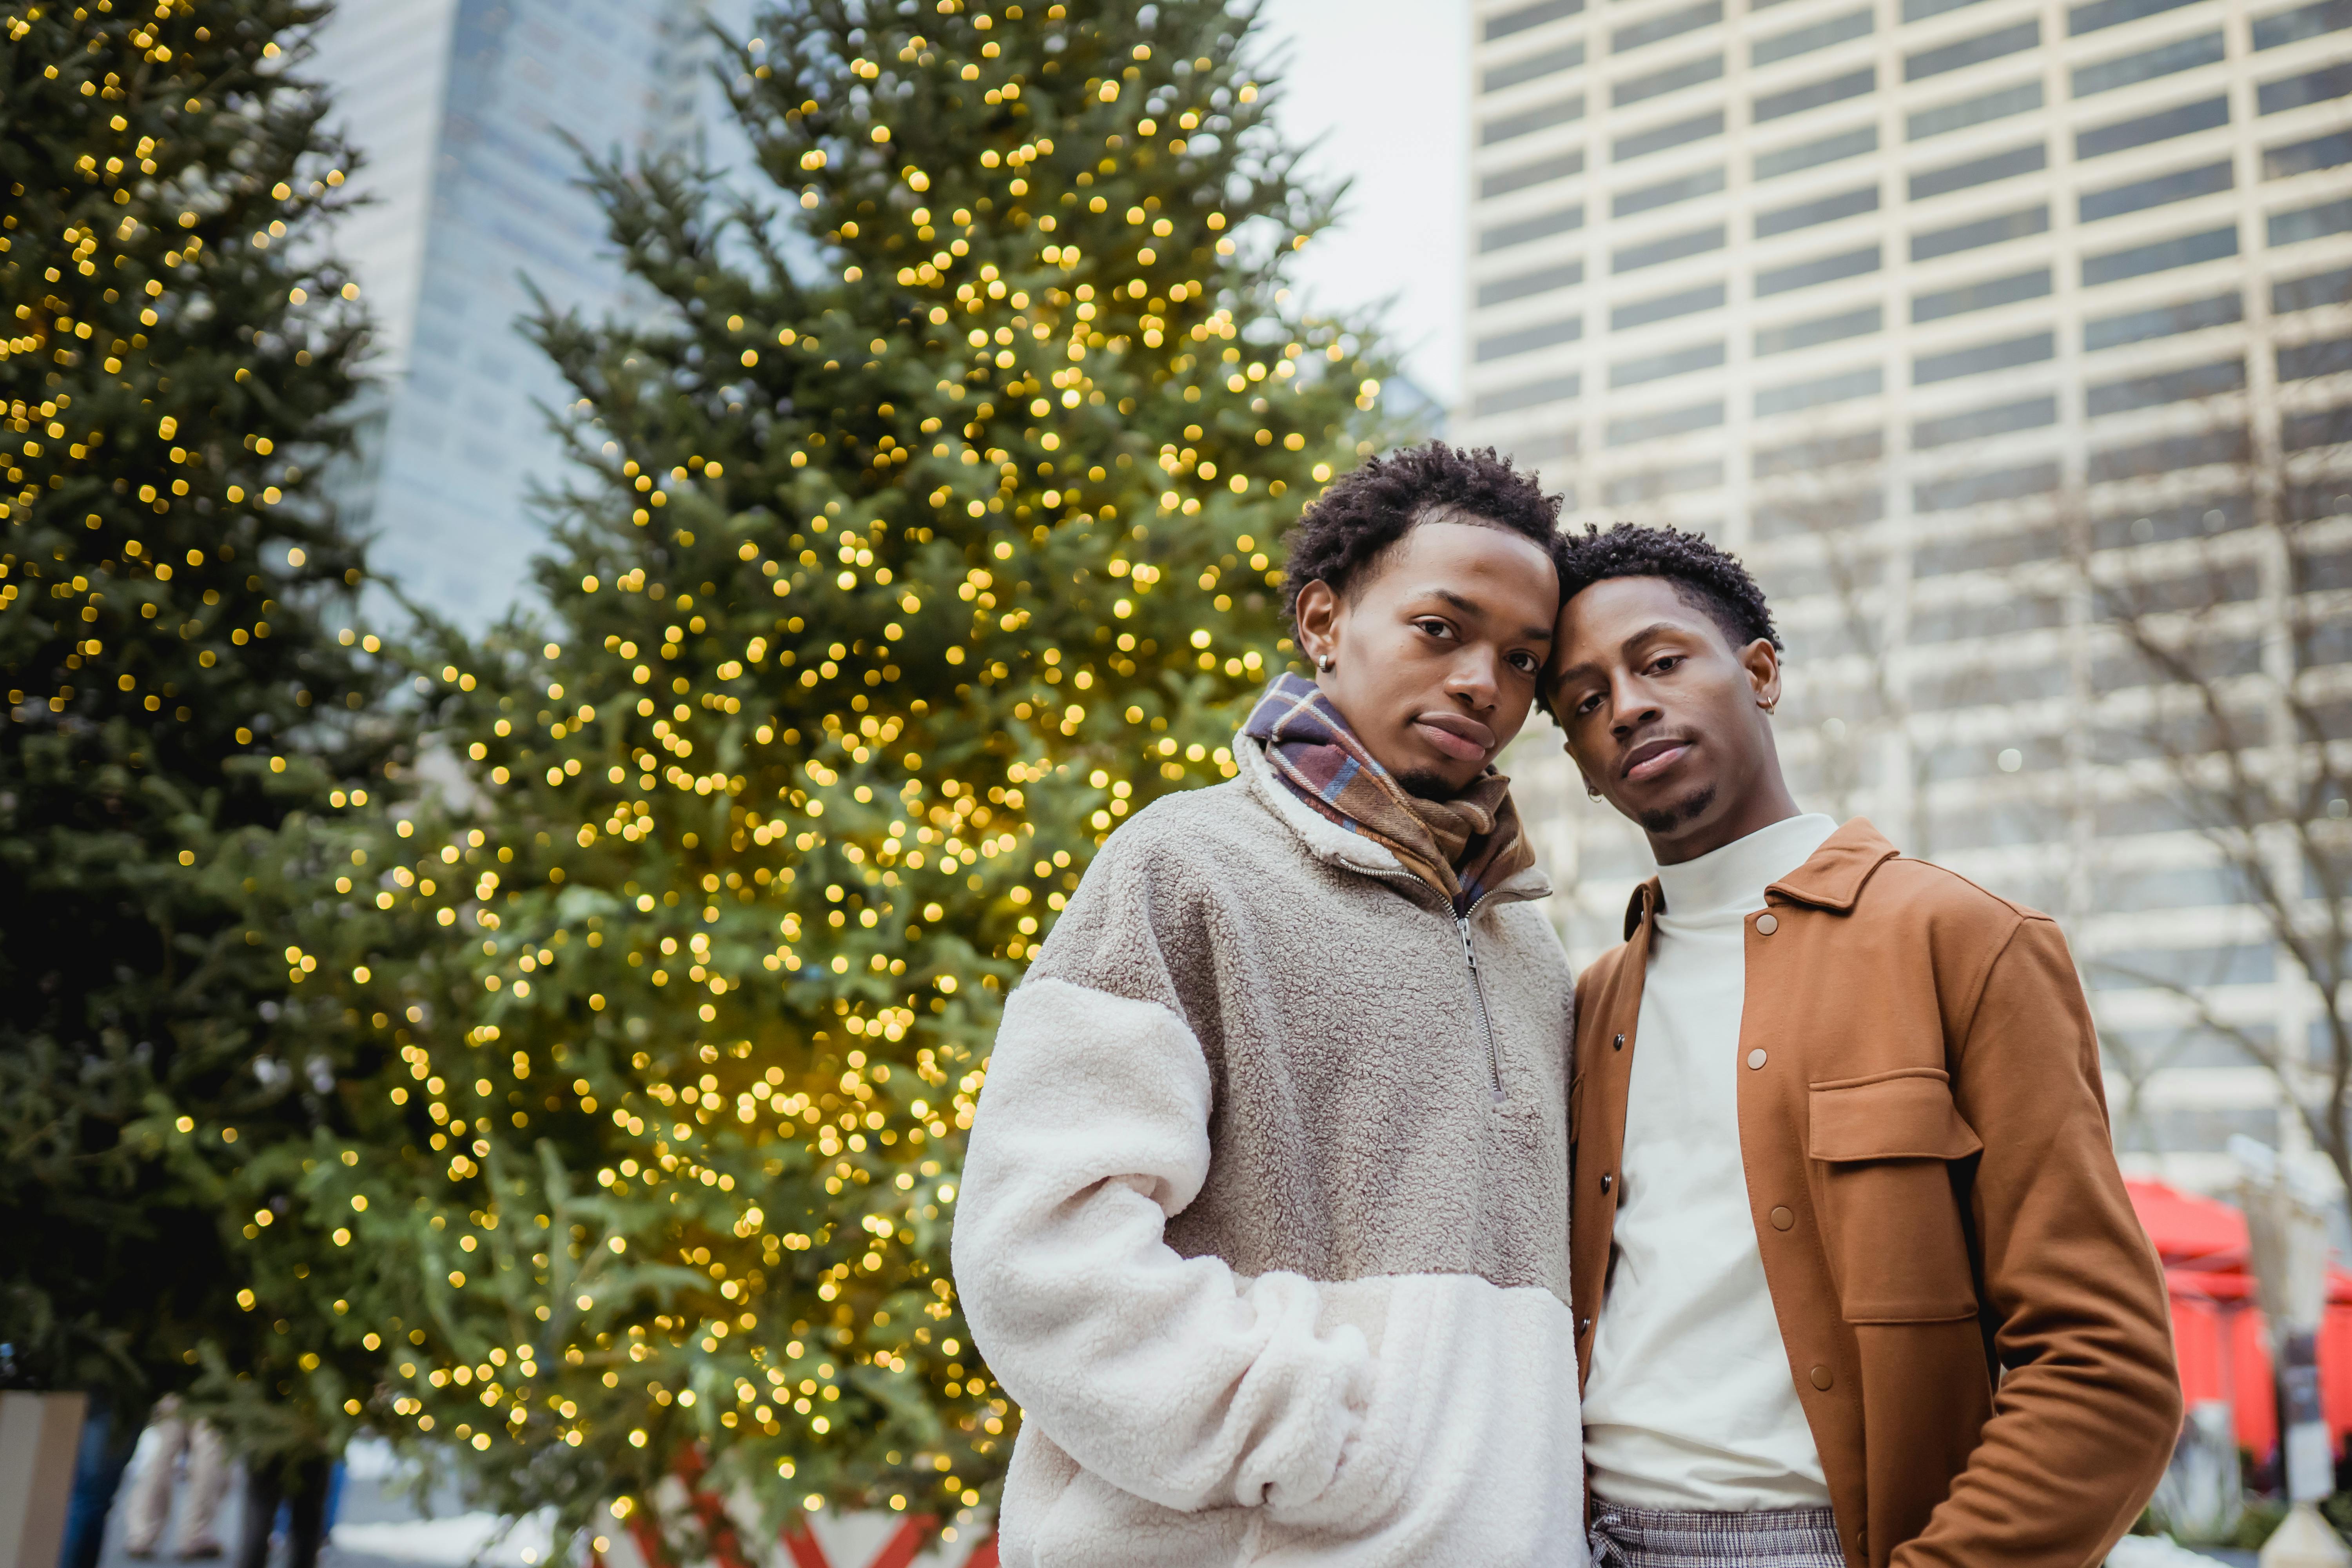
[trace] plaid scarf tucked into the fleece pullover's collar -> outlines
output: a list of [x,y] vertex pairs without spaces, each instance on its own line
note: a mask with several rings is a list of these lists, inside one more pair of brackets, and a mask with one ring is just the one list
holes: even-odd
[[1385,846],[1444,893],[1456,914],[1536,863],[1508,778],[1486,769],[1454,799],[1406,795],[1315,682],[1277,675],[1242,733],[1265,745],[1265,759],[1298,799]]

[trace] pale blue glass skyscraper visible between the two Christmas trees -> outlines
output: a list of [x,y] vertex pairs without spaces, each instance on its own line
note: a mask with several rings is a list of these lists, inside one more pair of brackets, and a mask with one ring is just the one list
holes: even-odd
[[310,71],[360,148],[369,197],[336,237],[376,317],[379,376],[341,491],[372,564],[482,623],[524,595],[534,487],[567,400],[517,317],[536,287],[590,317],[628,289],[581,153],[687,148],[706,122],[691,0],[367,0],[334,12]]

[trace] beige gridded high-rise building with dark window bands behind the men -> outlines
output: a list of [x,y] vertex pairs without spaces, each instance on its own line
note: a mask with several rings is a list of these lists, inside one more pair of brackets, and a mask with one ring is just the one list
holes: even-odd
[[[1569,517],[1750,562],[1799,797],[2067,922],[2126,1150],[2194,1178],[2232,1131],[2298,1143],[2246,1041],[2307,1051],[2317,994],[2183,820],[2145,741],[2180,691],[2103,585],[2201,616],[2216,689],[2230,658],[2310,663],[2352,738],[2352,2],[1484,0],[1472,26],[1458,430]],[[2319,571],[2281,567],[2281,517]],[[2286,637],[2288,609],[2338,630]],[[1522,755],[1590,959],[1649,858],[1550,741]]]

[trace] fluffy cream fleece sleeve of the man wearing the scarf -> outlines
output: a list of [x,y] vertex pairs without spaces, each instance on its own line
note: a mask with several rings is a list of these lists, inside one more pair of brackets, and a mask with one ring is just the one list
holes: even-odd
[[957,1199],[955,1281],[1004,1392],[1171,1509],[1324,1497],[1376,1380],[1317,1286],[1162,1239],[1209,1175],[1211,1079],[1167,1006],[1030,978],[1004,1006]]

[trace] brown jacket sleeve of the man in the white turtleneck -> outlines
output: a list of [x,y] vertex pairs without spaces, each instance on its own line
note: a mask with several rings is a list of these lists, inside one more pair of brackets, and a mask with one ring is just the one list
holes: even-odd
[[1983,1138],[1973,1220],[2002,1380],[1966,1469],[1893,1568],[2096,1563],[2180,1434],[2164,1274],[2114,1166],[2098,1037],[2065,938],[2018,924],[1952,1091]]

